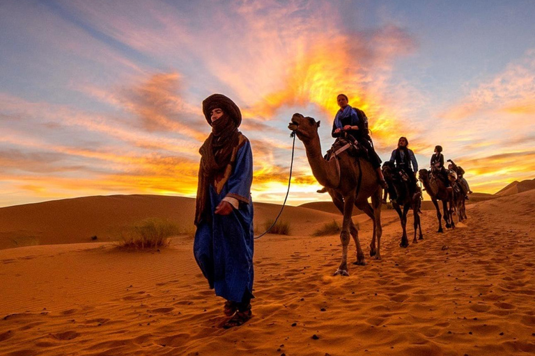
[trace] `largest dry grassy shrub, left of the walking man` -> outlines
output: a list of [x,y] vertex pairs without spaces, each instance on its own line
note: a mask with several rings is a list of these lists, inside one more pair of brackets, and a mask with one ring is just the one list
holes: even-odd
[[119,241],[121,248],[161,248],[169,245],[169,238],[180,234],[175,223],[159,218],[149,218],[134,225]]

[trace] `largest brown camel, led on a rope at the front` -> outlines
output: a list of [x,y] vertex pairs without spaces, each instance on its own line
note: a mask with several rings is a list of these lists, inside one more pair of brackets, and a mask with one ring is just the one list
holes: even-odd
[[[352,236],[357,246],[355,264],[364,266],[364,253],[360,247],[359,232],[352,221],[353,206],[361,209],[373,221],[373,236],[370,243],[370,255],[380,259],[381,227],[381,194],[375,170],[369,161],[350,156],[348,150],[336,155],[329,161],[323,158],[318,136],[320,122],[313,118],[305,118],[300,113],[292,116],[288,129],[295,132],[307,152],[312,174],[318,183],[327,188],[334,205],[343,214],[343,225],[340,233],[342,243],[342,261],[334,275],[348,276],[348,245]],[[343,174],[341,174],[343,172]],[[371,205],[368,198],[371,197]],[[377,240],[377,247],[375,247]]]

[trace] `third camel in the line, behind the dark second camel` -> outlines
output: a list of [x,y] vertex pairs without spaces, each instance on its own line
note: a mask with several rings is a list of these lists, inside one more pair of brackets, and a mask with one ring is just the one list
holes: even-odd
[[451,213],[449,213],[448,208],[448,204],[451,207],[451,189],[448,189],[441,179],[435,177],[435,173],[430,173],[426,169],[418,171],[418,179],[422,184],[424,184],[426,192],[431,197],[431,201],[433,202],[433,205],[435,205],[435,209],[437,209],[437,232],[444,232],[444,230],[442,230],[442,222],[440,221],[442,214],[440,213],[437,200],[442,200],[442,210],[444,211],[444,221],[446,222],[446,227],[448,229],[450,227],[455,228],[455,224],[453,224],[453,218],[451,218]]

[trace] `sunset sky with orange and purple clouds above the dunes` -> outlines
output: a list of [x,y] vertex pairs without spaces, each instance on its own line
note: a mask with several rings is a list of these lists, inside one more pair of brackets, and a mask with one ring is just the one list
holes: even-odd
[[[254,201],[281,204],[299,112],[325,152],[343,92],[383,160],[406,136],[495,193],[535,177],[535,1],[0,0],[0,207],[194,197],[201,110],[242,111]],[[295,144],[292,205],[319,195]]]

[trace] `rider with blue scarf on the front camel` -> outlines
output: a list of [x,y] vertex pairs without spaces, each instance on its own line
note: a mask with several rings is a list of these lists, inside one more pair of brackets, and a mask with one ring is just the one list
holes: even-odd
[[375,172],[377,172],[379,184],[382,188],[386,189],[388,185],[387,181],[385,181],[385,177],[382,175],[381,159],[378,154],[375,153],[375,149],[371,144],[371,137],[368,133],[368,118],[366,118],[364,111],[361,111],[358,108],[352,108],[348,104],[348,101],[348,97],[345,94],[339,94],[336,97],[336,102],[338,102],[340,110],[334,117],[331,132],[332,137],[337,138],[341,136],[342,131],[345,131],[355,138],[358,143],[364,146],[364,148],[368,150],[371,165],[373,165]]

